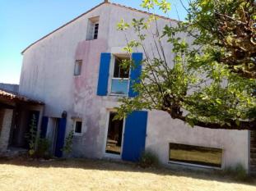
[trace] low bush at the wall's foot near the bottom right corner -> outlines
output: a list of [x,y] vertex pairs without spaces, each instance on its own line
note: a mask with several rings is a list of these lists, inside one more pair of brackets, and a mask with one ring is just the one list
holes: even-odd
[[226,175],[230,175],[235,180],[244,181],[244,180],[248,180],[249,178],[247,171],[244,169],[244,166],[241,164],[237,164],[236,166],[226,168],[224,173]]

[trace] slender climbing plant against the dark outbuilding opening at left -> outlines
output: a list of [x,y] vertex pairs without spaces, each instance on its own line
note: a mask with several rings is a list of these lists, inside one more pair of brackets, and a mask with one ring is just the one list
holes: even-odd
[[35,154],[35,145],[36,145],[36,118],[35,118],[35,114],[32,115],[32,119],[30,121],[30,132],[28,134],[26,134],[26,139],[28,140],[29,143],[29,154],[30,157],[33,156]]

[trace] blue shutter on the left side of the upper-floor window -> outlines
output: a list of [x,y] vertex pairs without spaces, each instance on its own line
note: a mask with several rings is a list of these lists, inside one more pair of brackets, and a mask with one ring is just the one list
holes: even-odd
[[110,60],[111,60],[110,53],[101,53],[98,89],[97,89],[97,95],[99,96],[106,96],[108,94]]

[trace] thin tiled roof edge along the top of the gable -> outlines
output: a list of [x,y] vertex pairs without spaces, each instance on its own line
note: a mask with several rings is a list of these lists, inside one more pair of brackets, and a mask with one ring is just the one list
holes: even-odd
[[[29,49],[30,47],[32,47],[35,43],[38,43],[38,42],[40,42],[41,40],[43,40],[43,39],[45,39],[46,37],[48,37],[49,35],[54,34],[56,31],[62,29],[62,28],[65,27],[66,25],[71,24],[73,21],[75,21],[75,20],[79,19],[81,16],[84,16],[84,15],[86,15],[87,13],[89,13],[89,12],[95,10],[95,8],[100,7],[100,6],[103,5],[103,4],[111,4],[111,5],[114,5],[114,6],[116,6],[116,7],[123,7],[123,8],[129,9],[129,10],[131,10],[131,11],[137,11],[137,12],[141,12],[141,13],[143,13],[143,14],[147,14],[147,15],[149,15],[149,16],[153,15],[153,14],[150,13],[150,12],[142,11],[142,10],[139,10],[139,9],[136,9],[136,8],[133,8],[133,7],[127,7],[127,6],[118,4],[118,3],[114,3],[114,2],[101,2],[101,3],[100,3],[99,5],[97,5],[96,7],[91,8],[89,11],[86,11],[85,13],[81,14],[80,16],[77,16],[77,17],[74,18],[73,20],[70,20],[70,21],[67,22],[66,24],[64,24],[64,25],[62,25],[62,26],[60,26],[60,27],[58,27],[58,29],[56,29],[56,30],[50,32],[49,34],[46,34],[46,35],[45,35],[44,37],[42,37],[41,39],[35,41],[34,43],[31,43],[27,48],[25,48],[25,49],[21,52],[21,54],[23,54],[24,52],[26,52],[26,50]],[[178,20],[170,19],[170,18],[165,17],[165,16],[160,16],[160,15],[155,15],[155,16],[157,16],[157,17],[159,17],[159,18],[161,18],[161,19],[179,22]]]

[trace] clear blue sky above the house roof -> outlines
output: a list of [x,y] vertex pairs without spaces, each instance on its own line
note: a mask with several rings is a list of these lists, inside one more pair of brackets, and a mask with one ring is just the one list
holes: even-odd
[[[0,83],[19,84],[22,50],[100,2],[103,0],[0,0]],[[111,2],[142,9],[141,0]],[[179,0],[169,2],[170,17],[184,20],[186,11]]]

